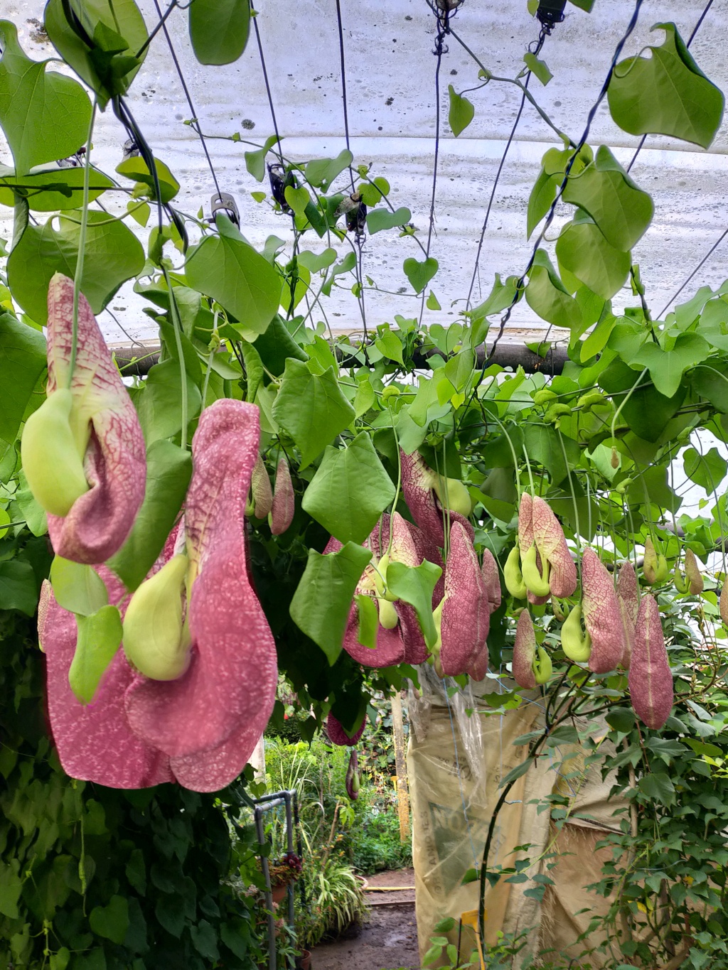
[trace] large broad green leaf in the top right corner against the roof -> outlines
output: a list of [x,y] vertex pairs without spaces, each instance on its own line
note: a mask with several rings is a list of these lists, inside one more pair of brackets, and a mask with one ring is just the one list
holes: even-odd
[[723,95],[706,78],[674,23],[649,57],[638,54],[614,68],[607,97],[612,118],[630,135],[672,135],[707,148],[723,116]]

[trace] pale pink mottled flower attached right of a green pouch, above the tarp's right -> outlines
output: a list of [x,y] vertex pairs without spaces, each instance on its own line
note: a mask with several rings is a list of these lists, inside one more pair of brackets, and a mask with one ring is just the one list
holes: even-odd
[[607,673],[624,653],[624,630],[612,576],[593,549],[581,557],[582,615],[591,637],[589,669]]

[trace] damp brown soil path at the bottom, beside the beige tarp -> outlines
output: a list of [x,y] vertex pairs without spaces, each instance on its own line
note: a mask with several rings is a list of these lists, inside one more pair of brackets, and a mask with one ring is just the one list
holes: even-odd
[[414,887],[414,869],[367,876],[369,921],[338,940],[320,943],[312,954],[312,970],[419,970],[414,889],[377,891],[384,886]]

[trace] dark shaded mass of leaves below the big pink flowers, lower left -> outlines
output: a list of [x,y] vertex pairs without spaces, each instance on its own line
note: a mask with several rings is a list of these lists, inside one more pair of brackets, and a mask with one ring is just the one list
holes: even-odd
[[44,665],[33,623],[0,611],[2,970],[253,970],[257,906],[227,883],[219,800],[68,778],[47,735]]

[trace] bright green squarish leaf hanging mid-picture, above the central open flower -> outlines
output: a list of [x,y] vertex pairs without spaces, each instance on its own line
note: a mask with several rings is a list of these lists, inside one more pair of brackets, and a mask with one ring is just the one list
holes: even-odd
[[302,504],[341,542],[363,542],[392,499],[392,480],[371,437],[361,432],[347,448],[326,448]]

